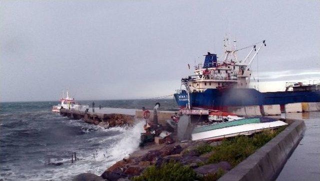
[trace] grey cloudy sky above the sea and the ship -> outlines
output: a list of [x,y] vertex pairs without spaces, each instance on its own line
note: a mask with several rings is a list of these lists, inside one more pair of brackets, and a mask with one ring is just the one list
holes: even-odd
[[266,40],[265,90],[320,79],[319,18],[318,0],[1,0],[0,100],[57,100],[66,88],[78,100],[169,95],[187,63],[221,53],[226,31],[238,47]]

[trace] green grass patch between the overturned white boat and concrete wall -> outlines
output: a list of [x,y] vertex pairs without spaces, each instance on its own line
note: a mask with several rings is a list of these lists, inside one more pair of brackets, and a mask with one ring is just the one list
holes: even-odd
[[208,164],[227,161],[234,167],[285,128],[286,127],[283,126],[277,130],[265,130],[261,133],[254,134],[252,137],[237,136],[231,139],[225,139],[221,145],[213,147],[214,154],[209,157]]

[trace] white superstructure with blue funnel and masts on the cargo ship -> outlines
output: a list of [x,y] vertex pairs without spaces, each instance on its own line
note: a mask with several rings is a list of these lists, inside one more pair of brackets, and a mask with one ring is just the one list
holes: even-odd
[[[182,79],[189,92],[203,92],[206,89],[220,88],[247,88],[250,83],[251,70],[248,66],[259,52],[265,40],[253,45],[236,49],[236,41],[230,42],[225,36],[223,39],[224,55],[222,61],[217,61],[216,54],[207,52],[204,64],[199,63],[194,67],[194,74]],[[256,49],[256,44],[259,47]],[[243,60],[238,60],[237,51],[252,47]],[[254,50],[254,51],[253,51]]]

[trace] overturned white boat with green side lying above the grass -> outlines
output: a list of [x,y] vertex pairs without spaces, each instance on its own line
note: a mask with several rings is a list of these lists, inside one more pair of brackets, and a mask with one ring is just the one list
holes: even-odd
[[272,118],[244,118],[194,128],[191,134],[191,139],[192,141],[220,140],[222,138],[238,135],[251,135],[265,129],[274,129],[284,125],[287,125],[287,123]]

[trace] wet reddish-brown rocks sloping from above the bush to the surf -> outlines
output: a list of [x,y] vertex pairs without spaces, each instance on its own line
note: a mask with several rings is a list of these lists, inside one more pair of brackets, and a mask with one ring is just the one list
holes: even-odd
[[[229,171],[231,165],[227,162],[208,164],[209,156],[214,152],[199,155],[195,150],[203,142],[174,143],[145,147],[133,153],[129,158],[123,159],[108,168],[101,177],[109,181],[128,180],[139,176],[149,166],[160,167],[168,162],[178,162],[192,168],[200,176],[214,174],[219,169]],[[205,165],[208,164],[208,165]]]

